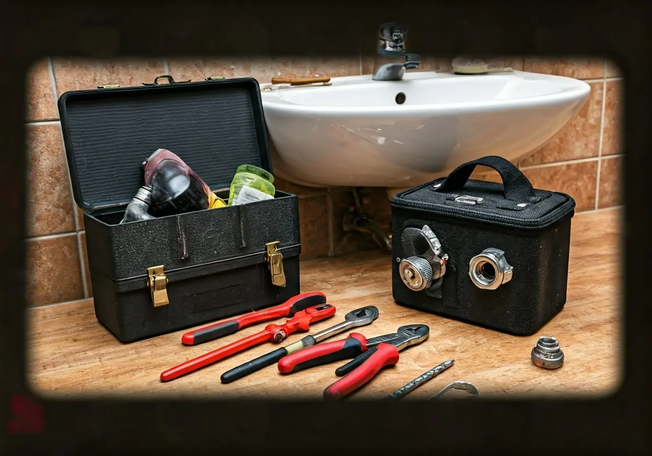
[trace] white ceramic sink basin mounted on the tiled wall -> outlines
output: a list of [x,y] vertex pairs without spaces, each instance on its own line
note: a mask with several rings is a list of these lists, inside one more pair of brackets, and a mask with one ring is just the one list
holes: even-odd
[[514,160],[569,122],[590,88],[528,72],[370,75],[261,96],[274,172],[305,186],[406,188],[485,155]]

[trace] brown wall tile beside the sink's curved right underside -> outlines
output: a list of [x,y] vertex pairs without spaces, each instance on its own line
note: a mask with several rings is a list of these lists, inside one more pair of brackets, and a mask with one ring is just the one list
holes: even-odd
[[590,83],[591,93],[577,115],[550,141],[521,160],[521,166],[564,162],[597,157],[600,146],[602,119],[601,82]]

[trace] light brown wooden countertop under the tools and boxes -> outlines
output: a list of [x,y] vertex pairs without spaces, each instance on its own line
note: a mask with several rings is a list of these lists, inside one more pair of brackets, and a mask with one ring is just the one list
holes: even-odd
[[[337,307],[331,319],[311,328],[316,332],[341,321],[344,313],[374,305],[379,318],[357,328],[368,337],[394,332],[403,324],[430,326],[430,338],[403,350],[395,367],[386,368],[353,397],[387,395],[435,365],[454,358],[453,367],[408,398],[429,397],[455,380],[472,382],[481,395],[536,393],[606,395],[621,378],[619,358],[620,244],[619,210],[578,214],[572,220],[571,264],[565,308],[537,334],[505,335],[471,324],[437,317],[394,304],[390,257],[368,252],[319,259],[301,266],[301,289],[323,291]],[[342,363],[289,376],[269,366],[231,384],[220,375],[247,360],[278,348],[265,343],[185,377],[162,383],[162,371],[261,330],[265,324],[196,347],[181,345],[179,331],[122,344],[95,319],[92,300],[29,309],[29,378],[41,395],[291,395],[321,399]],[[285,319],[276,321],[283,322]],[[348,332],[329,341],[346,337]],[[286,343],[306,334],[293,334]],[[536,367],[530,351],[541,335],[557,337],[564,365],[554,371]]]

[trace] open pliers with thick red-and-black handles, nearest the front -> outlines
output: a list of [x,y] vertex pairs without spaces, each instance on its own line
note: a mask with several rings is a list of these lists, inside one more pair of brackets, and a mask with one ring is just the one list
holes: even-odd
[[340,378],[327,387],[325,399],[339,399],[353,393],[369,382],[387,365],[398,362],[398,352],[428,339],[430,328],[425,324],[401,326],[393,334],[367,339],[362,334],[351,333],[346,339],[314,345],[300,350],[278,362],[278,370],[290,373],[325,363],[353,358],[335,370]]

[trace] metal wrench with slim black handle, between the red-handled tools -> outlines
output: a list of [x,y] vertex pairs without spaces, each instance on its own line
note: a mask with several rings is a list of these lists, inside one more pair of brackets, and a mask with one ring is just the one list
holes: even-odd
[[281,347],[280,349],[273,350],[263,356],[248,361],[244,364],[241,364],[233,369],[226,371],[222,374],[221,380],[222,383],[230,383],[238,378],[245,377],[250,373],[254,373],[263,367],[272,365],[275,362],[278,362],[284,356],[288,354],[303,350],[306,347],[312,347],[316,343],[332,337],[333,335],[340,334],[348,330],[349,328],[357,328],[358,326],[365,326],[374,322],[378,318],[378,308],[374,306],[361,307],[360,309],[355,309],[344,315],[344,321],[326,328],[325,330],[319,331],[316,334],[306,335],[300,341],[291,343],[286,347]]

